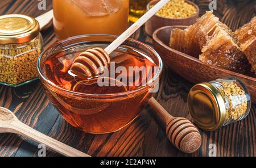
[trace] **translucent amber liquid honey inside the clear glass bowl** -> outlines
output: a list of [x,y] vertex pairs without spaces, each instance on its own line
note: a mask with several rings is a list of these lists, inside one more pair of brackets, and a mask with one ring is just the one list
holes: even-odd
[[[104,83],[109,82],[112,85],[99,86],[97,79],[100,77],[82,80],[69,72],[74,58],[82,51],[93,47],[95,45],[67,49],[48,57],[42,65],[42,73],[49,81],[57,87],[72,91],[77,96],[62,94],[56,92],[53,87],[45,86],[49,99],[68,123],[90,133],[114,132],[133,121],[147,103],[147,98],[152,96],[147,89],[143,89],[143,86],[138,85],[138,83],[154,77],[156,64],[150,57],[139,51],[123,47],[118,48],[110,54],[112,66],[108,67],[109,73],[111,73],[111,68],[114,65],[115,70],[118,67],[123,67],[127,72],[131,66],[152,68],[152,74],[143,75],[135,71],[131,74],[127,73],[127,81],[132,75],[133,82],[127,82],[127,85],[121,86],[118,86],[118,82],[116,82],[120,73],[115,73],[115,76],[111,78],[110,74],[109,78],[105,78],[109,81],[105,80]],[[105,46],[101,47],[105,48]],[[122,82],[119,81],[119,83]],[[142,90],[138,91],[139,89]],[[137,91],[137,93],[127,96],[127,93],[133,91]]]

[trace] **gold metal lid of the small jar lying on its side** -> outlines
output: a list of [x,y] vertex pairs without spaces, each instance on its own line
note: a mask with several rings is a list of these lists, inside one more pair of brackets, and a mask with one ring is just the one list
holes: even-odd
[[216,130],[224,124],[224,99],[210,83],[200,83],[192,87],[188,94],[188,109],[195,124],[204,131]]

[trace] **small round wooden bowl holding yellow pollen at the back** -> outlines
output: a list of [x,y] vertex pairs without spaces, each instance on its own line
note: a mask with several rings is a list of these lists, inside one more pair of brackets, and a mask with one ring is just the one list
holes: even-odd
[[[147,10],[150,10],[151,5],[155,5],[159,0],[151,1],[147,5]],[[146,24],[145,24],[145,31],[149,36],[152,36],[154,31],[160,27],[164,26],[175,26],[175,25],[183,25],[183,26],[189,26],[193,23],[196,23],[196,19],[199,18],[199,7],[191,2],[191,1],[185,1],[193,6],[196,7],[196,14],[189,17],[189,18],[181,18],[181,19],[172,19],[172,18],[165,18],[159,15],[154,15],[152,18],[150,18]]]

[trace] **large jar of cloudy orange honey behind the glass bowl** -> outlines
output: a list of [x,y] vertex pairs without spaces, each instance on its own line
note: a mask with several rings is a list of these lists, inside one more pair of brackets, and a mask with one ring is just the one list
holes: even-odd
[[83,34],[121,35],[127,29],[129,0],[53,0],[59,39]]

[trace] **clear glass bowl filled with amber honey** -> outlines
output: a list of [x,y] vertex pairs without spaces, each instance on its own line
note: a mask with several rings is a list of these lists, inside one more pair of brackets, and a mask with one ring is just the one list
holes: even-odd
[[70,37],[51,45],[39,57],[39,78],[49,100],[68,123],[84,132],[118,131],[131,123],[158,91],[162,60],[154,49],[133,39],[110,54],[104,74],[85,80],[70,72],[81,52],[106,48],[116,38]]

